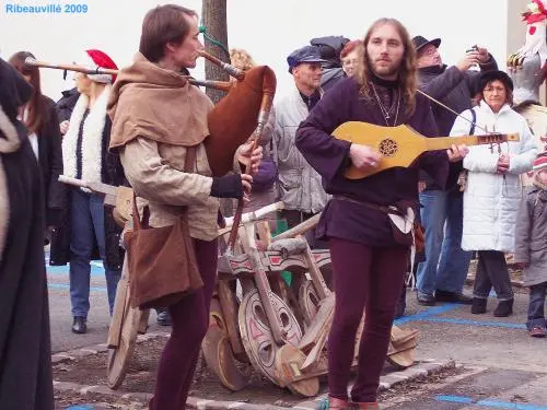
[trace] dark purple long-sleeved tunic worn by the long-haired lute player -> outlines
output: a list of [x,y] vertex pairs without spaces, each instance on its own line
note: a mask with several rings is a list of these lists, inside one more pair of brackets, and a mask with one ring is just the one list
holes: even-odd
[[[405,105],[400,103],[397,125],[409,125],[426,137],[437,136],[429,101],[420,94],[416,95],[416,110],[408,118],[404,115]],[[296,132],[296,148],[323,177],[327,194],[381,206],[401,201],[410,201],[417,206],[419,168],[427,171],[444,187],[449,171],[444,151],[424,153],[409,168],[391,168],[357,180],[345,178],[344,171],[350,163],[351,143],[338,140],[330,133],[347,121],[385,125],[376,102],[360,96],[359,85],[351,78],[339,81],[329,90]],[[316,232],[318,238],[339,237],[371,246],[397,245],[385,213],[335,198],[323,210]]]

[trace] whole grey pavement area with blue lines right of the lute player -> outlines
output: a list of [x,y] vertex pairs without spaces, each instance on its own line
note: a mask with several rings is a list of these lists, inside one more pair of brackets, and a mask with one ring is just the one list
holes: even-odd
[[422,307],[407,293],[407,316],[401,327],[420,330],[417,359],[453,359],[459,374],[415,384],[386,398],[389,410],[547,410],[547,339],[525,330],[528,295],[515,294],[514,314],[505,318],[488,312],[472,315],[470,306],[439,304]]

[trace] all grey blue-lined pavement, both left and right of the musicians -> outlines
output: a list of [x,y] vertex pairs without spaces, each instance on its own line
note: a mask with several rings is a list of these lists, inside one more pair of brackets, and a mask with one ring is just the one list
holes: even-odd
[[[83,336],[70,331],[68,267],[47,267],[47,272],[54,351],[104,343],[109,315],[101,262],[94,262],[92,268],[90,331]],[[399,393],[394,387],[394,394],[382,400],[383,408],[547,410],[547,338],[527,335],[527,301],[525,290],[517,291],[514,314],[496,318],[496,298],[489,300],[486,314],[472,315],[468,305],[419,306],[414,292],[408,291],[406,316],[396,324],[420,330],[416,360],[454,360],[461,368],[458,374],[417,382]],[[154,314],[150,325],[151,331],[160,329]],[[207,397],[203,399],[207,401]]]

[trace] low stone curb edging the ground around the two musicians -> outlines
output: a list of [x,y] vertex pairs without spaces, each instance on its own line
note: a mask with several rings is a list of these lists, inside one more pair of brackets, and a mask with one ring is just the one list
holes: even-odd
[[[158,337],[167,337],[166,332],[154,332],[149,335],[139,336],[137,343],[141,343],[146,340],[158,338]],[[100,350],[103,349],[103,350]],[[70,360],[75,360],[77,358],[84,358],[86,355],[95,354],[96,352],[106,351],[106,345],[95,345],[90,348],[82,348],[78,350],[73,350],[70,352],[57,353],[58,361],[56,363],[61,363]],[[54,355],[54,356],[55,356]],[[435,361],[432,359],[420,361],[411,367],[408,367],[404,371],[395,371],[387,375],[384,375],[380,378],[380,387],[379,393],[391,389],[392,387],[399,385],[405,382],[416,380],[421,377],[429,376],[431,374],[435,374],[449,368],[455,368],[456,363],[454,360],[446,361]],[[131,393],[131,391],[119,391],[112,390],[107,386],[85,386],[79,385],[75,383],[69,382],[54,382],[54,389],[56,391],[71,391],[82,396],[92,395],[92,394],[101,394],[109,397],[118,397],[124,399],[135,399],[148,401],[152,398],[151,394],[148,393]],[[305,400],[298,403],[287,403],[287,406],[278,406],[284,402],[276,401],[274,405],[257,405],[257,403],[248,403],[244,401],[222,401],[222,400],[209,400],[199,397],[188,397],[186,402],[187,408],[196,409],[196,410],[287,410],[288,408],[298,409],[298,410],[316,410],[318,408],[319,401],[326,398],[327,395],[321,395],[315,397],[312,400]],[[70,407],[69,407],[70,409]],[[92,407],[92,409],[98,410],[100,407]]]

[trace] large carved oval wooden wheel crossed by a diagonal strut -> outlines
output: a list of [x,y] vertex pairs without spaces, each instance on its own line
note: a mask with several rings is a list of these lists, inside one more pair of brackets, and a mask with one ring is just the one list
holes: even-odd
[[[289,343],[298,344],[302,338],[302,330],[287,304],[275,293],[270,293],[270,301],[276,311],[279,324],[287,333]],[[243,345],[256,370],[264,373],[278,386],[283,386],[279,379],[279,370],[276,356],[281,348],[274,340],[266,312],[257,290],[248,292],[240,305],[240,331]]]

